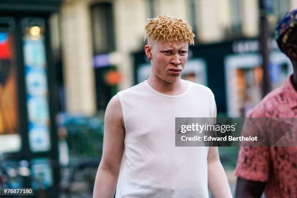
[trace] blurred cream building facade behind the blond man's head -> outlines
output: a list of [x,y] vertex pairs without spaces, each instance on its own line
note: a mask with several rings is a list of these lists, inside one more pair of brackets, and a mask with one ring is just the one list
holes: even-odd
[[[271,33],[293,8],[297,0],[274,0]],[[259,35],[258,0],[65,0],[52,40],[62,51],[67,112],[92,115],[137,82],[132,53],[143,51],[147,19],[159,14],[188,21],[196,46]]]

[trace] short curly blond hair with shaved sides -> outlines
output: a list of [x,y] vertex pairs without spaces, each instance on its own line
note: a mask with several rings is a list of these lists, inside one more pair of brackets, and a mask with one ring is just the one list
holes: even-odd
[[145,39],[169,42],[188,42],[194,45],[195,34],[192,33],[192,27],[181,18],[169,15],[158,15],[148,18],[145,26]]

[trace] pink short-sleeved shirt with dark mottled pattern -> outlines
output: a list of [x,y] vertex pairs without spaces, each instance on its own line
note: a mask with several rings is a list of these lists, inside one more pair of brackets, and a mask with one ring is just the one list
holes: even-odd
[[[264,97],[247,117],[297,117],[297,91],[291,77]],[[235,174],[266,182],[266,198],[297,198],[297,147],[241,147]]]

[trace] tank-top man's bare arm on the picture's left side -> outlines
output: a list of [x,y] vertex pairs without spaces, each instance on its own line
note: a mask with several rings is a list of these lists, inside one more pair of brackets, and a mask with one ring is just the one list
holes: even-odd
[[125,128],[117,95],[109,102],[104,118],[102,159],[97,171],[93,198],[113,198],[124,149]]

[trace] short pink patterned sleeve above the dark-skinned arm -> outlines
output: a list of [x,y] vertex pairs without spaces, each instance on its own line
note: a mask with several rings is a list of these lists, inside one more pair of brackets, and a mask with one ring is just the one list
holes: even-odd
[[[247,117],[263,117],[259,109],[251,110]],[[235,175],[245,180],[265,182],[270,172],[269,147],[241,147],[238,154]]]

